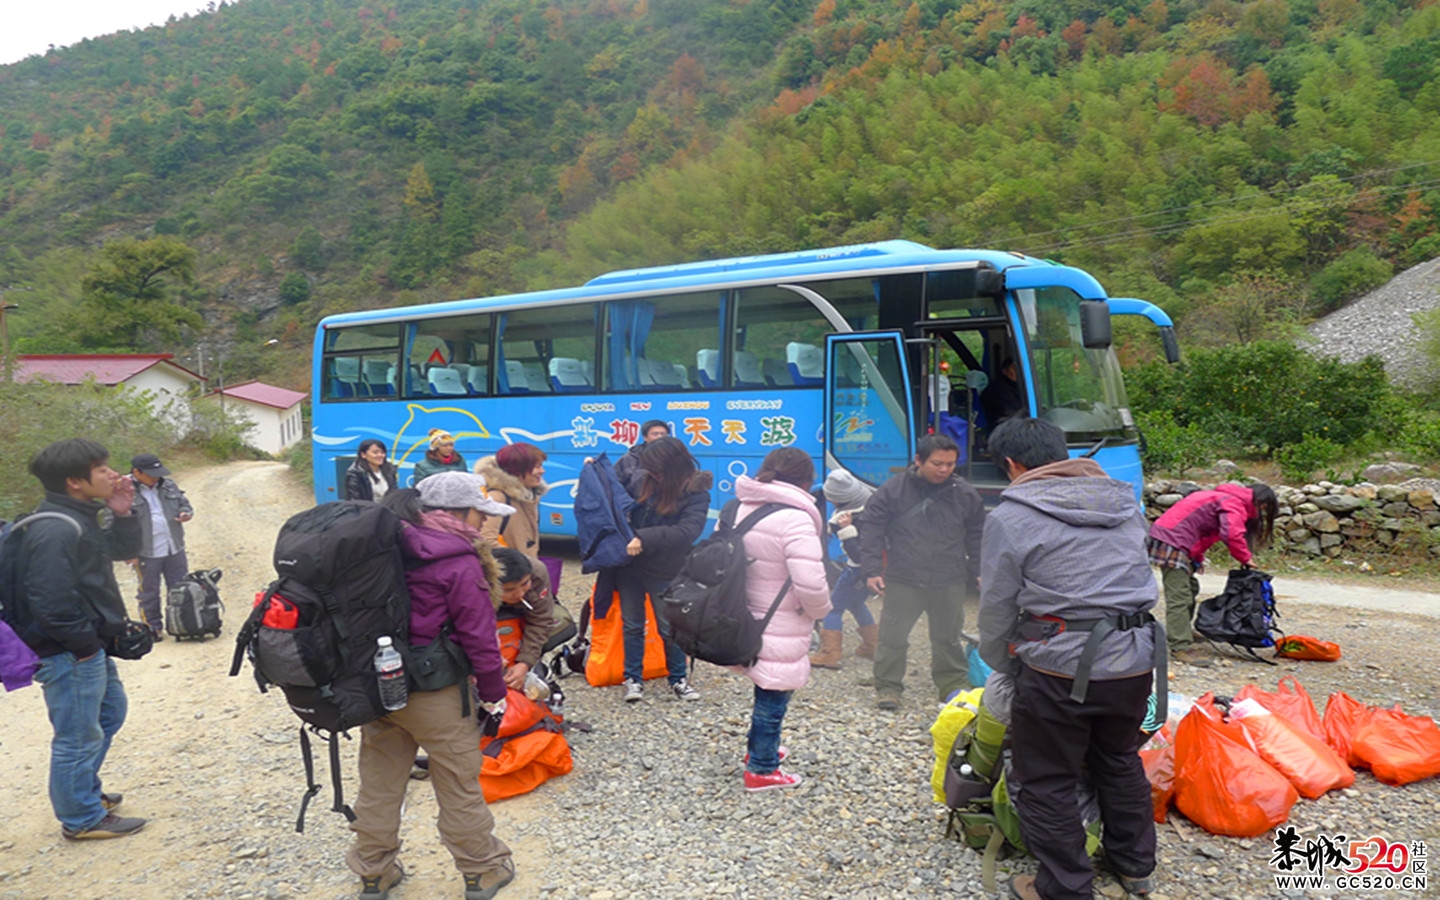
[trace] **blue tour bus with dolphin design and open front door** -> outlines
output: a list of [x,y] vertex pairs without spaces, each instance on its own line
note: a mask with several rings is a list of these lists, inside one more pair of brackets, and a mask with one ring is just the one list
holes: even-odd
[[[586,456],[624,454],[662,419],[716,480],[714,508],[776,446],[878,484],[930,429],[989,501],[981,395],[1012,360],[1025,406],[1140,494],[1139,435],[1110,347],[1138,314],[1086,272],[998,251],[887,240],[602,275],[577,288],[327,317],[314,346],[318,501],[343,498],[360,441],[410,481],[431,428],[467,462],[504,444],[547,455],[541,530],[573,536]],[[713,513],[714,514],[714,513]]]

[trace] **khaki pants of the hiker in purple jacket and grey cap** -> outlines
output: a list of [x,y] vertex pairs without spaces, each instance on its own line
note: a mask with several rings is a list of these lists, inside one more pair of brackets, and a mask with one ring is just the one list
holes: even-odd
[[495,837],[495,818],[480,788],[480,724],[461,716],[459,690],[410,694],[396,710],[360,729],[360,795],[346,864],[360,877],[384,874],[400,854],[400,808],[416,747],[431,757],[431,785],[441,814],[441,842],[465,876],[492,873],[510,858]]

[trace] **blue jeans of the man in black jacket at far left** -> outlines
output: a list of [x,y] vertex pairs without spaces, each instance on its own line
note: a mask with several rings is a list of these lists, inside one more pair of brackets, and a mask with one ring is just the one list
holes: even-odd
[[76,660],[71,652],[46,657],[35,680],[45,685],[45,706],[55,729],[50,806],[60,825],[84,831],[105,818],[99,768],[115,732],[125,724],[125,687],[105,651],[89,660]]

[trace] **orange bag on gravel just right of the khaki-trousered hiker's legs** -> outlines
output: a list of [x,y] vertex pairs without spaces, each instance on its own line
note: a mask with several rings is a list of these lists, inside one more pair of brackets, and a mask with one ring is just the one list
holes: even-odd
[[575,768],[560,717],[511,688],[495,737],[481,737],[480,788],[485,802],[534,791]]

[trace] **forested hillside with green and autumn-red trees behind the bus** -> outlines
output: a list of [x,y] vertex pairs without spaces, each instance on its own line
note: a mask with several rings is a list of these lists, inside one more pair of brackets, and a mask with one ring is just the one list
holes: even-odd
[[[302,354],[331,311],[909,238],[1250,340],[1440,255],[1437,60],[1433,0],[240,0],[0,68],[0,287],[26,350]],[[99,248],[157,236],[192,311],[124,328],[164,312]]]

